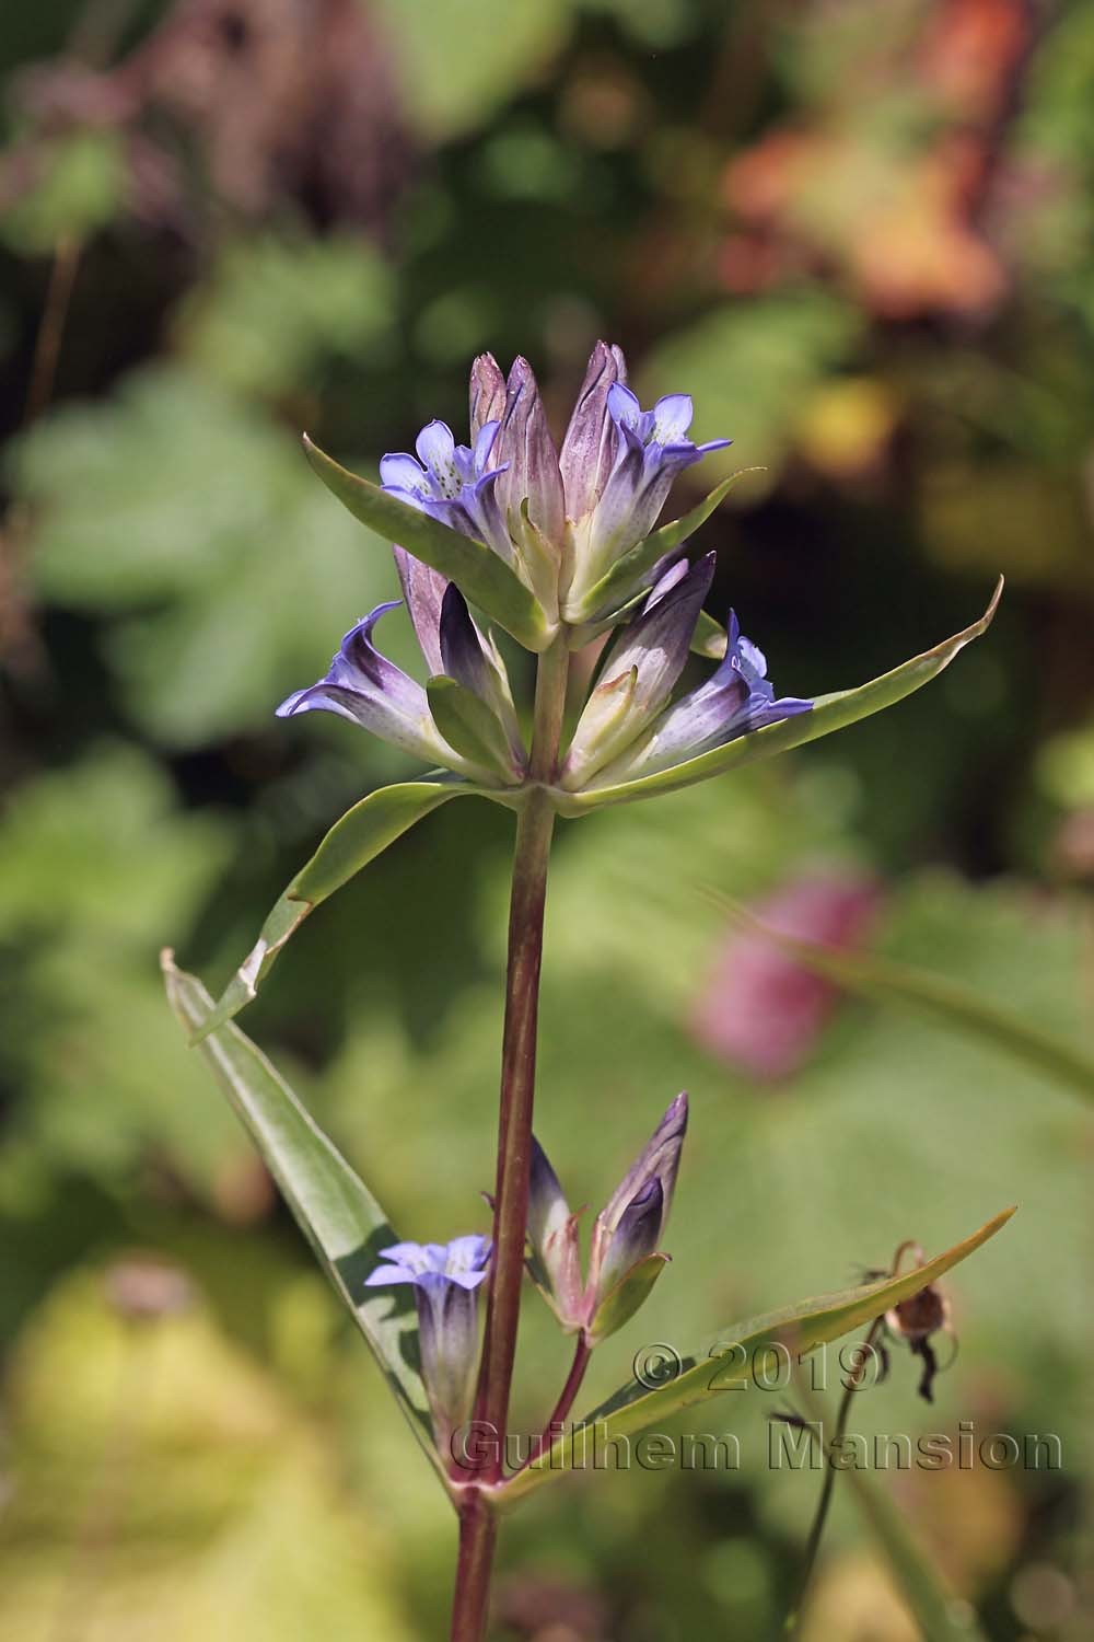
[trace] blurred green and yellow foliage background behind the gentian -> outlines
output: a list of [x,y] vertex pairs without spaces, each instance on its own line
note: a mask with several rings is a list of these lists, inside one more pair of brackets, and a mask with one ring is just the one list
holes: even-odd
[[[1009,588],[892,713],[561,828],[538,1128],[571,1202],[694,1102],[674,1264],[587,1401],[641,1343],[1020,1202],[955,1276],[935,1407],[897,1355],[855,1424],[1058,1433],[1058,1471],[886,1483],[992,1637],[1089,1635],[1089,1107],[771,970],[718,893],[1089,1046],[1091,7],[38,0],[5,8],[0,67],[0,1634],[443,1632],[448,1507],[156,952],[223,984],[335,816],[410,768],[272,719],[395,588],[299,430],[372,471],[464,427],[482,348],[526,353],[564,422],[605,335],[643,397],[733,437],[707,483],[763,470],[702,542],[782,693]],[[487,1223],[508,847],[492,806],[423,823],[244,1018],[405,1236]],[[566,1360],[535,1296],[522,1338],[533,1427]],[[738,1473],[536,1499],[499,1637],[777,1635],[818,1479],[769,1470],[771,1409],[694,1422],[736,1432]],[[915,1635],[841,1494],[805,1634]]]

